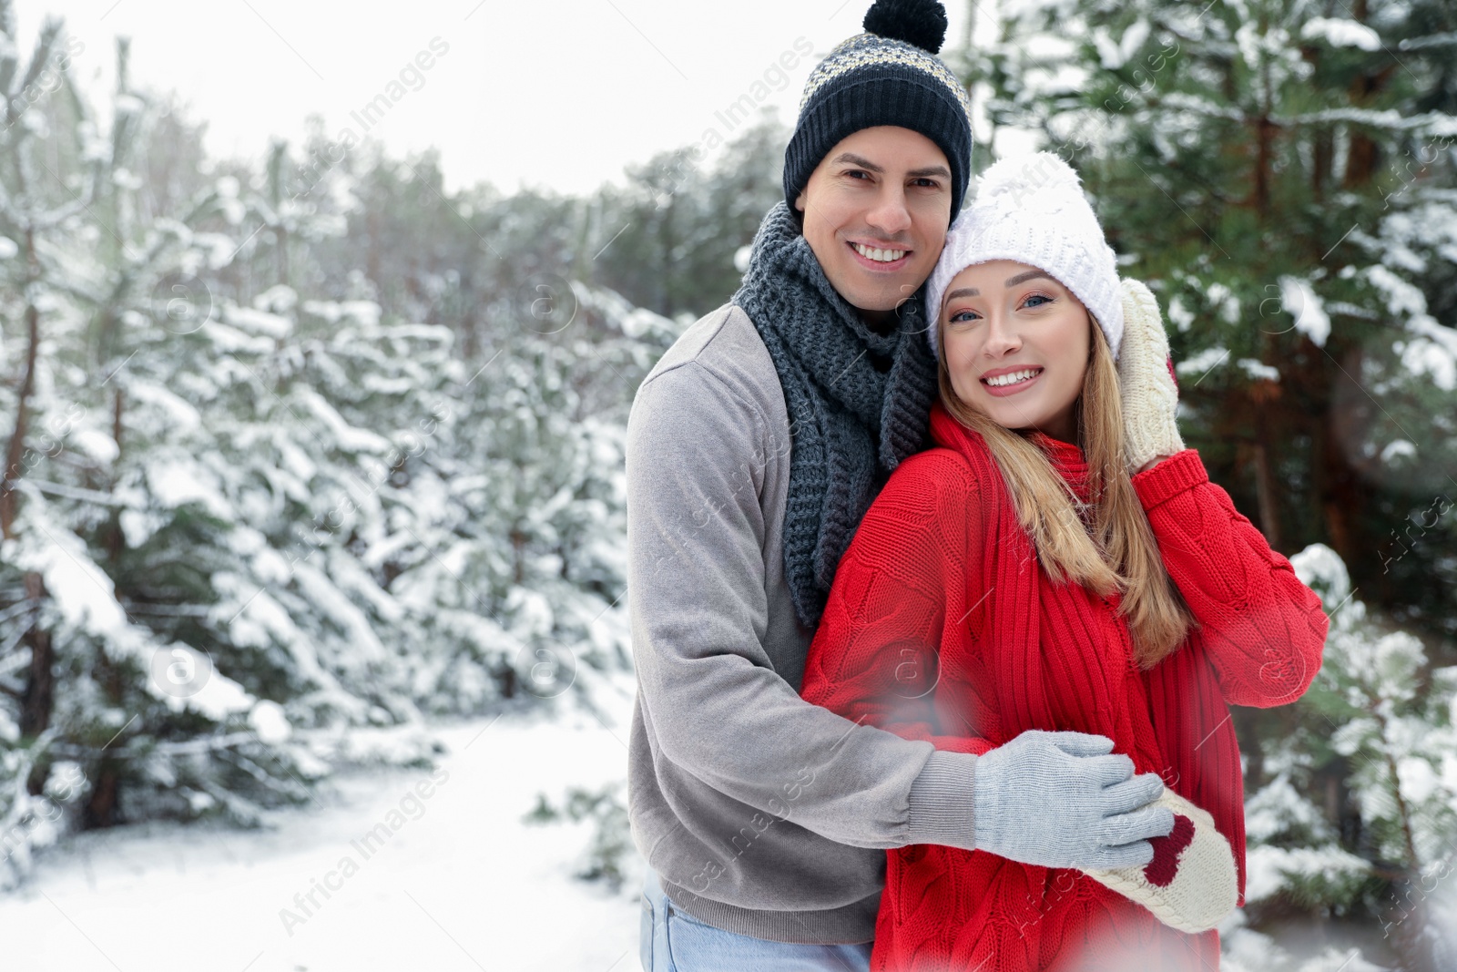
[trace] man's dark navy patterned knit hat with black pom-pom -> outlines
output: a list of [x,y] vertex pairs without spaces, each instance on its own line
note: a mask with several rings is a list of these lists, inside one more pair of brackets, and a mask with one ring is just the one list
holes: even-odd
[[810,71],[800,118],[784,150],[784,198],[798,214],[810,173],[842,138],[861,128],[899,125],[918,131],[951,165],[951,216],[970,178],[972,117],[966,89],[934,57],[946,39],[946,9],[937,0],[876,0],[865,34],[829,52]]

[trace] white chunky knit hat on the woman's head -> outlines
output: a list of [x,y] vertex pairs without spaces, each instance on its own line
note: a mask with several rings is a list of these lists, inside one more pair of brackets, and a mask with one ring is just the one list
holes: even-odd
[[941,297],[973,264],[1014,259],[1052,274],[1083,302],[1118,360],[1123,340],[1123,297],[1118,259],[1103,239],[1078,173],[1050,152],[1002,159],[982,173],[973,201],[951,223],[941,259],[927,283],[927,337],[931,354]]

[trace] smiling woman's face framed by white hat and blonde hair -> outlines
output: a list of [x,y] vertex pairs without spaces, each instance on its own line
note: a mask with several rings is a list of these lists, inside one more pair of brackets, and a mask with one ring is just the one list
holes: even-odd
[[1075,440],[1091,321],[1071,290],[1027,264],[975,264],[946,289],[940,326],[957,398],[998,426]]

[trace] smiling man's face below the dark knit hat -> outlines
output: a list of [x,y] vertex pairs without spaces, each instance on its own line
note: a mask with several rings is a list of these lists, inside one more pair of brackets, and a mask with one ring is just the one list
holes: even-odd
[[826,153],[794,200],[835,290],[886,321],[931,275],[951,222],[951,166],[934,141],[861,128]]

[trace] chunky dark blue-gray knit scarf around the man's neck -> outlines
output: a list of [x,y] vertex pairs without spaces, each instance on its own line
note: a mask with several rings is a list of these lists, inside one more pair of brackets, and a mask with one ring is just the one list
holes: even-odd
[[763,217],[733,296],[774,358],[790,412],[784,573],[810,630],[886,477],[925,443],[937,373],[922,300],[918,291],[900,305],[895,334],[873,332],[830,286],[784,201]]

